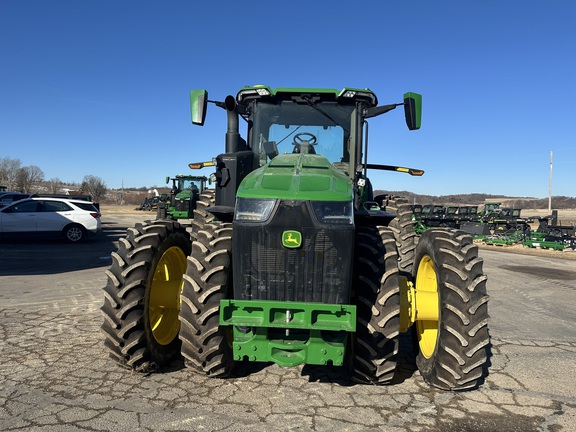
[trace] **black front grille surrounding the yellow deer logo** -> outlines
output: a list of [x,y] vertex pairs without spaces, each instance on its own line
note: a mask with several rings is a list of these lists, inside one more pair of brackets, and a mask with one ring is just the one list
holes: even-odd
[[[287,249],[282,233],[302,233]],[[353,226],[319,225],[306,202],[282,202],[266,224],[234,222],[234,297],[342,304],[350,297]]]

